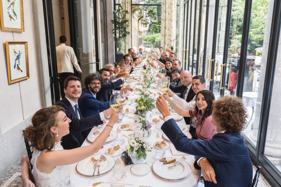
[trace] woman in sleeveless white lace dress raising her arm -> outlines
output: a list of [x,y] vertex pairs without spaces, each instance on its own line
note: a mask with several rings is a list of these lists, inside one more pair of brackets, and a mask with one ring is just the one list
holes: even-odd
[[112,113],[108,124],[91,145],[64,150],[61,146],[61,138],[71,131],[71,120],[65,114],[64,108],[51,106],[38,110],[31,119],[32,125],[23,133],[34,149],[31,163],[35,185],[37,187],[70,186],[70,164],[99,151],[118,120],[119,111]]

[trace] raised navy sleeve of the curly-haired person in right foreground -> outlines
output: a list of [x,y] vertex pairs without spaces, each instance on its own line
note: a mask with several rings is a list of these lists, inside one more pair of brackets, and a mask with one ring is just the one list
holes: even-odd
[[231,160],[232,146],[230,140],[223,133],[214,135],[212,140],[189,139],[182,133],[174,119],[165,122],[161,129],[178,151],[209,159]]

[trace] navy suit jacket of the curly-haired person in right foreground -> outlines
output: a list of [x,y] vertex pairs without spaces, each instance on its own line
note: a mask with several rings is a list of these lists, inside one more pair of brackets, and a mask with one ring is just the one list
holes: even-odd
[[252,162],[240,133],[218,133],[212,140],[193,140],[182,133],[174,119],[165,122],[161,129],[178,151],[195,155],[196,169],[201,169],[196,163],[200,157],[208,159],[217,184],[204,180],[205,186],[252,186]]

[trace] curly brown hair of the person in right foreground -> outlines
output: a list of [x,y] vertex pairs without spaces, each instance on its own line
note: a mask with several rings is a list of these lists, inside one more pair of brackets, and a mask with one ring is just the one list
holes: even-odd
[[226,132],[241,132],[246,128],[247,112],[242,99],[225,96],[213,103],[213,116],[219,119]]

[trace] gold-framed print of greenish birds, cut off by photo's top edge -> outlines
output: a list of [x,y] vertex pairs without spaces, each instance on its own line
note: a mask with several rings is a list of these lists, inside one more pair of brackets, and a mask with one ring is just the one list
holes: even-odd
[[0,0],[0,25],[3,31],[24,32],[23,0]]

